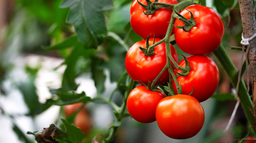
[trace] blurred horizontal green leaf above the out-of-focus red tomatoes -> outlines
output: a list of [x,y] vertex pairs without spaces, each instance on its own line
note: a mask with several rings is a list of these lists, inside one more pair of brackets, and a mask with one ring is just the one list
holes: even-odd
[[57,94],[58,100],[49,99],[47,100],[47,103],[53,104],[53,105],[67,105],[67,104],[73,104],[77,102],[83,102],[87,103],[92,101],[91,97],[88,97],[85,95],[85,92],[82,92],[80,94],[72,92],[60,92]]

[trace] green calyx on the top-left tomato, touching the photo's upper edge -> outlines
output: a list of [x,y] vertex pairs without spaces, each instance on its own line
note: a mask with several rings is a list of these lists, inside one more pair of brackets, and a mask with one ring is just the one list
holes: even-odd
[[[139,0],[137,0],[139,5],[147,10],[146,12],[143,11],[144,14],[146,14],[146,15],[154,14],[156,12],[156,10],[159,8],[168,8],[168,9],[172,10],[171,8],[167,7],[170,4],[158,3],[158,0],[155,0],[153,3],[150,0],[146,0],[146,1],[147,1],[147,5],[143,5],[139,2]],[[170,6],[172,7],[172,5],[170,5]]]

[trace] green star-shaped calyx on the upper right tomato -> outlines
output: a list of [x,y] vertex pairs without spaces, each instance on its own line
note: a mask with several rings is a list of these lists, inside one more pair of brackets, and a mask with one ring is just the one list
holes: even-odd
[[[189,10],[187,10],[187,11],[189,11]],[[185,32],[188,32],[193,26],[195,26],[195,25],[197,24],[197,22],[194,20],[193,13],[192,13],[191,11],[189,11],[190,14],[191,14],[190,19],[184,18],[184,17],[183,17],[180,13],[178,13],[176,10],[174,10],[174,12],[175,12],[175,14],[176,14],[175,17],[176,17],[177,19],[179,19],[180,21],[184,22],[185,25],[183,25],[183,26],[176,26],[176,25],[173,25],[173,26],[175,26],[175,27],[177,27],[177,28],[180,28],[180,29],[183,29]]]

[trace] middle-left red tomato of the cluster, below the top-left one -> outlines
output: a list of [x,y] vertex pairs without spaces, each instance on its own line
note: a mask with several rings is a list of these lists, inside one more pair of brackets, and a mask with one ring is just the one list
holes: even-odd
[[[149,44],[153,44],[154,38],[149,39]],[[155,42],[160,41],[161,39],[156,38]],[[154,48],[155,54],[153,56],[144,56],[144,53],[139,49],[141,45],[142,48],[146,48],[146,40],[136,42],[128,51],[125,57],[125,68],[130,77],[133,80],[141,81],[145,85],[153,82],[153,80],[158,76],[160,71],[166,65],[166,49],[165,43]],[[172,45],[171,55],[174,60],[177,62],[178,56],[177,52]],[[172,63],[172,62],[171,62]],[[161,80],[161,81],[160,81]],[[169,81],[169,72],[166,69],[157,80],[157,83],[160,81],[160,84],[166,83]],[[140,83],[140,82],[139,82]]]

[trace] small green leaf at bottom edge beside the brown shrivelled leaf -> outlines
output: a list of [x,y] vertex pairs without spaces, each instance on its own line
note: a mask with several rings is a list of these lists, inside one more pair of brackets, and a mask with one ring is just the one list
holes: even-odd
[[64,118],[60,118],[60,119],[65,126],[68,139],[71,142],[73,142],[73,143],[80,142],[85,137],[84,133],[81,132],[80,128],[77,128],[74,124],[70,124]]

